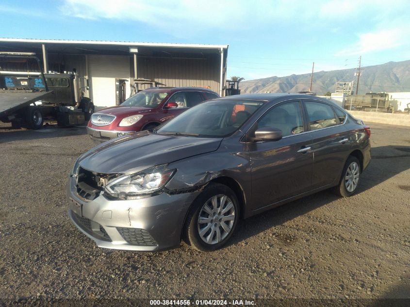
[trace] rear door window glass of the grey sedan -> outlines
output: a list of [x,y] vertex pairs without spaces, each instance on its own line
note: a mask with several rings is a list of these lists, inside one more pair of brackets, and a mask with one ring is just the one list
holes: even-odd
[[327,128],[337,125],[336,117],[331,106],[313,101],[305,101],[311,130]]

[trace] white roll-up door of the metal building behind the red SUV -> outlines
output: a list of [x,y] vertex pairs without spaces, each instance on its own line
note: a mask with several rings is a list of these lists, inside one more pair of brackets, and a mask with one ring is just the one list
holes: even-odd
[[[89,55],[90,96],[98,107],[115,106],[115,78],[130,81],[130,59],[127,56]],[[130,82],[126,82],[126,97]]]

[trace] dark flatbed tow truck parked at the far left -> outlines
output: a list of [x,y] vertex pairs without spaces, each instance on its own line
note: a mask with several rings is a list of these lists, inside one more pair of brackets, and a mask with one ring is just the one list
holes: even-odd
[[33,53],[0,52],[0,121],[29,129],[40,129],[45,119],[59,126],[86,123],[94,104],[78,93],[77,77],[44,74]]

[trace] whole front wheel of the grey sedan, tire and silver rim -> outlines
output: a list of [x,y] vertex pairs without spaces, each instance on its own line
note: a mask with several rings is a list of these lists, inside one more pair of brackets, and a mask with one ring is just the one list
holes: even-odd
[[239,218],[238,200],[227,186],[211,183],[188,214],[184,239],[199,251],[221,248],[232,236]]

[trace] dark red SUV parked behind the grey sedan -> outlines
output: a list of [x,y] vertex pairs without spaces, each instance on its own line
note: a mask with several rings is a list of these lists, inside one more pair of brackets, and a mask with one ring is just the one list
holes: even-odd
[[92,114],[87,132],[102,143],[132,132],[148,130],[198,103],[217,98],[215,92],[198,87],[156,87],[131,96],[121,105]]

